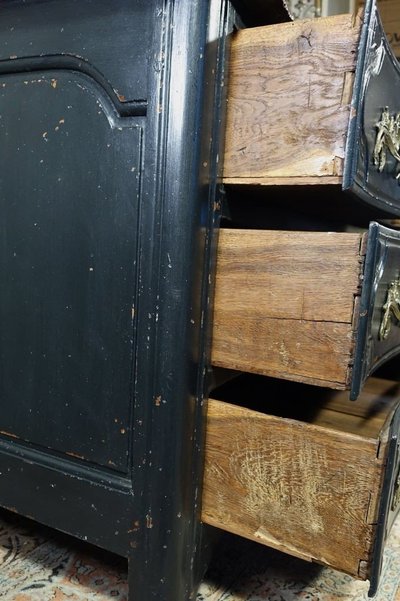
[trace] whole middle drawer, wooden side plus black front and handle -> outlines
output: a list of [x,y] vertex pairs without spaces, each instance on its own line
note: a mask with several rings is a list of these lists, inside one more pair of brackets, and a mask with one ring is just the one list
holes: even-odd
[[[400,233],[220,231],[212,363],[356,398],[400,351]],[[396,317],[397,314],[397,317]]]

